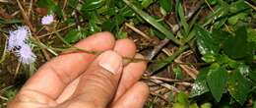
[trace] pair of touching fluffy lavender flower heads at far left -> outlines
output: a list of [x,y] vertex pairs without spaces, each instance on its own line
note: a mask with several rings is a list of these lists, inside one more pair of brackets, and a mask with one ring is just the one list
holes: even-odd
[[29,35],[31,31],[29,27],[18,27],[17,30],[10,31],[7,49],[14,52],[19,61],[24,64],[31,64],[35,61],[36,56],[32,53],[29,45]]

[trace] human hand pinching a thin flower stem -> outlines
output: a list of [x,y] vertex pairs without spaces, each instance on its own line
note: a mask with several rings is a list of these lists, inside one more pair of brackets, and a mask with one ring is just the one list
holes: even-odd
[[44,64],[26,82],[8,108],[142,108],[149,88],[139,81],[145,62],[126,64],[135,54],[129,39],[115,41],[109,32],[81,40],[76,47],[104,51],[99,56],[84,52],[62,54]]

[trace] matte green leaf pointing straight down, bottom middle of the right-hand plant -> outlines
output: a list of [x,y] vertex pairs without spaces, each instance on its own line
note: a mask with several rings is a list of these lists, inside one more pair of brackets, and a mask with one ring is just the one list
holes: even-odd
[[210,69],[207,75],[207,83],[217,102],[220,102],[222,98],[226,81],[227,71],[224,68]]

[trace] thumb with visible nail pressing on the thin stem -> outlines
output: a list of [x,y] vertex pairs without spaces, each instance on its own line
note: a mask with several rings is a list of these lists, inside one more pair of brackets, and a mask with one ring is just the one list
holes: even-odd
[[[100,54],[82,75],[73,95],[77,107],[105,108],[113,98],[122,73],[122,58],[114,51]],[[73,105],[70,105],[73,106]]]

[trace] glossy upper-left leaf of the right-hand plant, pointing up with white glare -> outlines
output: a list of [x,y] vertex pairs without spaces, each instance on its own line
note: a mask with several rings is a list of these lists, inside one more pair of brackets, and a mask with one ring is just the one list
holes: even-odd
[[196,26],[196,37],[199,51],[202,55],[218,54],[221,46],[216,43],[215,39],[203,27]]

